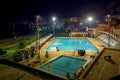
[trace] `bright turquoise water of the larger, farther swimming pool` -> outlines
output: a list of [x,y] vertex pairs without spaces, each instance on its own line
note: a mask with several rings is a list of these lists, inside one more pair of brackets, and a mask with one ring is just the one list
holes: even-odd
[[55,38],[46,50],[98,50],[87,38]]

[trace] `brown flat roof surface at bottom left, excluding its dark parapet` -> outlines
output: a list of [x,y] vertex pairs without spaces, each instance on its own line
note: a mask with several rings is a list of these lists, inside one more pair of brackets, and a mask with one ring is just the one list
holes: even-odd
[[40,78],[5,64],[0,64],[0,80],[40,80]]

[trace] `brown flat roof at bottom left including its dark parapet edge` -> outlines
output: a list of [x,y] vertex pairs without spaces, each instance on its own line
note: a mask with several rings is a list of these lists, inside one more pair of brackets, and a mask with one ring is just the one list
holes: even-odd
[[0,80],[65,80],[10,60],[0,60]]

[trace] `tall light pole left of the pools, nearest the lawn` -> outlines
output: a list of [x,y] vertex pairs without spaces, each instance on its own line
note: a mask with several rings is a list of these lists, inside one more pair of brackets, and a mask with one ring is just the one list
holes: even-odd
[[39,21],[40,16],[36,15],[36,61],[40,61],[40,39],[39,39]]

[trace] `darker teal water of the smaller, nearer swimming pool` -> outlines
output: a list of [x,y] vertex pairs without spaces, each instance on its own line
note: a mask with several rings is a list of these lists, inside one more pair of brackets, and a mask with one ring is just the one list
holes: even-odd
[[[69,56],[61,55],[38,68],[40,70],[61,76],[66,77],[66,73],[69,72],[70,75],[73,75],[87,60],[80,58],[73,58]],[[48,65],[50,68],[48,69]]]

